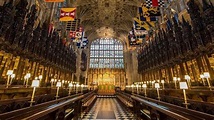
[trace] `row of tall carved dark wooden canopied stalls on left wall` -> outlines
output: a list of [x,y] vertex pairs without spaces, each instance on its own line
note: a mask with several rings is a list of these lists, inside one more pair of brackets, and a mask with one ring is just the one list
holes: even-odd
[[5,85],[8,70],[15,74],[11,85],[23,85],[27,73],[31,74],[29,81],[41,75],[44,87],[51,85],[52,78],[72,81],[74,50],[63,44],[58,31],[49,31],[49,20],[34,28],[38,6],[27,6],[27,0],[17,4],[10,0],[0,7],[0,85]]

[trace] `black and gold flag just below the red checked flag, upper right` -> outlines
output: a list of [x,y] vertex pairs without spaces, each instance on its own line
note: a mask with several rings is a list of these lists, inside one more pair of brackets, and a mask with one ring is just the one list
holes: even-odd
[[143,3],[142,7],[139,8],[139,13],[143,17],[152,17],[161,15],[159,7],[147,7],[145,3]]

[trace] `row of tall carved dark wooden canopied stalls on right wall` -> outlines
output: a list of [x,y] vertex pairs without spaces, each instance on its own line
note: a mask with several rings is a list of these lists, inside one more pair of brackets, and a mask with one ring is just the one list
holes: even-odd
[[[182,17],[169,29],[159,29],[155,38],[138,55],[138,72],[143,81],[184,80],[189,75],[193,85],[202,85],[200,74],[210,73],[213,84],[213,5],[203,0],[200,11],[194,0],[187,3],[190,20]],[[189,22],[191,21],[191,22]]]

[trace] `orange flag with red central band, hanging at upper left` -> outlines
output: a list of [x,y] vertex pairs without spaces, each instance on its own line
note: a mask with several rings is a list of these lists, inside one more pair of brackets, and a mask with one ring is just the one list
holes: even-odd
[[60,21],[73,21],[75,18],[76,8],[61,8]]

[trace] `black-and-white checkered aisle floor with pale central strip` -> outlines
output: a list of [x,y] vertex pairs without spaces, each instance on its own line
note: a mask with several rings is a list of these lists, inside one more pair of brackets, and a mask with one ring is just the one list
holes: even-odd
[[133,120],[134,115],[120,106],[116,98],[97,98],[89,112],[81,115],[83,120]]

